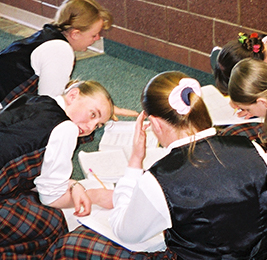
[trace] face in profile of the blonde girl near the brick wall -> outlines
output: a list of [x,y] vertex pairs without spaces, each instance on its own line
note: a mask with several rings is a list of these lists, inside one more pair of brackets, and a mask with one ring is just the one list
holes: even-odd
[[95,22],[90,29],[86,31],[72,30],[66,35],[67,40],[74,51],[86,51],[95,41],[100,39],[100,31],[103,28],[103,20]]

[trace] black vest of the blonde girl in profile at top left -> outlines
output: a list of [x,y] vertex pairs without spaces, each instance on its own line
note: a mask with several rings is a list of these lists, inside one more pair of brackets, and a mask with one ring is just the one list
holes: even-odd
[[31,67],[31,53],[42,43],[54,39],[67,41],[55,26],[46,24],[42,30],[13,42],[0,52],[0,102],[14,88],[35,75]]

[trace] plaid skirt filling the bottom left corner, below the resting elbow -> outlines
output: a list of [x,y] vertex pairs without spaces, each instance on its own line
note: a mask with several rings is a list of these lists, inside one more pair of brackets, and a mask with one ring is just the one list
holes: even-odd
[[42,259],[50,245],[67,232],[62,211],[42,205],[34,191],[0,202],[0,256],[3,260]]

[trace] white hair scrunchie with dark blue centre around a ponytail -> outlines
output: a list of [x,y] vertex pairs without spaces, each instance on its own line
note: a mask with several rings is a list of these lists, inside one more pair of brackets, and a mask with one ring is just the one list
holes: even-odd
[[170,93],[169,104],[178,114],[186,115],[189,113],[191,109],[189,93],[191,92],[201,97],[201,86],[199,82],[192,78],[182,78],[179,85]]

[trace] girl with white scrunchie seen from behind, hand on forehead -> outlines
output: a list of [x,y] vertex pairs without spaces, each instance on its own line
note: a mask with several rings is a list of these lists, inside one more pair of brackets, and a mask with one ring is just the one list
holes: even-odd
[[[198,81],[183,73],[152,78],[142,105],[129,167],[114,190],[110,224],[126,243],[163,232],[166,246],[153,253],[130,252],[79,228],[61,237],[54,259],[266,259],[267,167],[262,148],[246,137],[217,136]],[[166,156],[143,171],[146,117]],[[79,241],[77,246],[75,238],[94,243]],[[78,258],[85,252],[83,245],[87,254]]]

